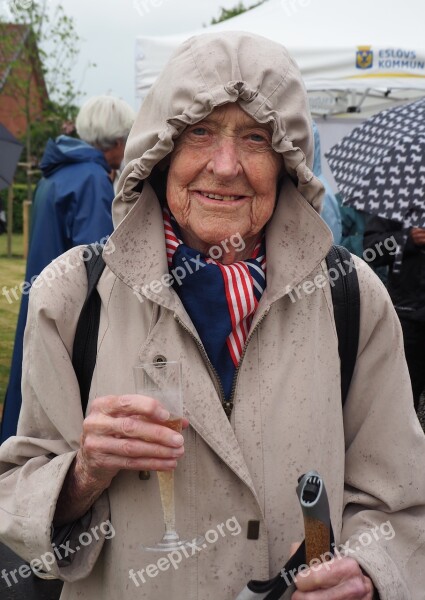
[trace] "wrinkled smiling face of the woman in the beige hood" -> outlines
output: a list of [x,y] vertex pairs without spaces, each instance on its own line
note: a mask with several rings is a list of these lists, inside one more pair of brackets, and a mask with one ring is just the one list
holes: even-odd
[[[167,201],[183,241],[208,253],[230,236],[245,242],[248,258],[270,219],[283,161],[271,147],[271,130],[237,104],[216,108],[187,127],[170,156]],[[231,250],[231,248],[230,248]]]

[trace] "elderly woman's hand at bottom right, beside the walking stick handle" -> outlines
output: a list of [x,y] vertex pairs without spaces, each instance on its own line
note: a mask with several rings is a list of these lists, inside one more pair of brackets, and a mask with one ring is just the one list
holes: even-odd
[[338,558],[301,571],[292,600],[372,600],[372,580],[353,558]]

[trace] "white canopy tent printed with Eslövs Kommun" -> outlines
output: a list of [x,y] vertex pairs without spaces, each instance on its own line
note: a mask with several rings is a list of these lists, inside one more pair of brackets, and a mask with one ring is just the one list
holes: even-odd
[[[192,35],[257,33],[286,46],[297,61],[324,154],[359,120],[425,96],[424,22],[425,0],[391,6],[388,0],[267,0],[198,31],[138,37],[136,96],[143,101],[171,54]],[[323,168],[335,186],[326,161]]]

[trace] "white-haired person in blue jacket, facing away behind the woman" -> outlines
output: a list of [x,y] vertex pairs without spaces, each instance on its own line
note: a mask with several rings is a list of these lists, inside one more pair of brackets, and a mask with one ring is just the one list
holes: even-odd
[[80,139],[49,140],[40,163],[43,177],[34,194],[31,240],[15,344],[6,391],[0,442],[15,435],[21,408],[22,348],[28,293],[52,260],[77,245],[98,242],[112,233],[112,169],[119,169],[133,109],[112,96],[96,96],[76,120]]

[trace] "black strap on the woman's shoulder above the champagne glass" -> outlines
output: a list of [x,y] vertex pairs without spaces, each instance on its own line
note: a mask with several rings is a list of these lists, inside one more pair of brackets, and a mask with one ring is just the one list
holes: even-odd
[[72,364],[80,385],[83,415],[86,412],[96,364],[100,320],[100,296],[96,286],[105,268],[102,251],[103,246],[100,244],[90,244],[84,249],[84,264],[88,280],[87,296],[78,319],[72,349]]

